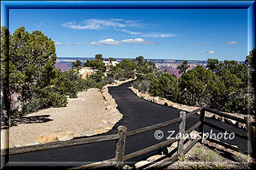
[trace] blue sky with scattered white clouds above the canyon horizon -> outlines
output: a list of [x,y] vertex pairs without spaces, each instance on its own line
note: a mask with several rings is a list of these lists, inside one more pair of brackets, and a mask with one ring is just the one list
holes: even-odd
[[58,57],[243,61],[247,10],[10,9],[9,29],[39,30]]

